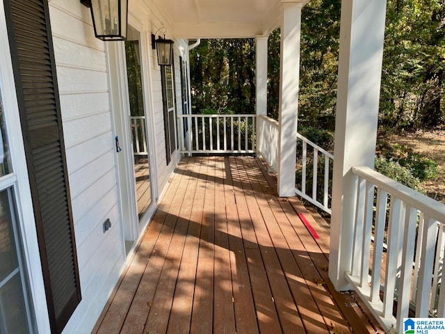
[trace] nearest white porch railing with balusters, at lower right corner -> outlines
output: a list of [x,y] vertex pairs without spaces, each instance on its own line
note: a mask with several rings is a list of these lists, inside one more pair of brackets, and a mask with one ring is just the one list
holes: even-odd
[[415,317],[445,317],[445,205],[371,168],[353,173],[355,231],[346,278],[390,333],[401,331],[410,310]]

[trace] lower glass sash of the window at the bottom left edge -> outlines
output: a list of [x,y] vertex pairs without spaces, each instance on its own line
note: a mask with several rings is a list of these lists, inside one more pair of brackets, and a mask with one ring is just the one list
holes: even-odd
[[0,192],[0,333],[30,333],[12,189]]

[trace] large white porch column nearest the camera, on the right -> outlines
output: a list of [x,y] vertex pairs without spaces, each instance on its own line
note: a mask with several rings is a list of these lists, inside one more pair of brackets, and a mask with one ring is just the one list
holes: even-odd
[[329,277],[349,288],[357,191],[352,166],[374,167],[386,0],[341,1]]

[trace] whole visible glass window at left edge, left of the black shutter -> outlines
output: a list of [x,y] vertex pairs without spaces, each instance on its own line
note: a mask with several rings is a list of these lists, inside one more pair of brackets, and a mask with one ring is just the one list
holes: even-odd
[[32,333],[30,293],[16,210],[16,178],[0,94],[0,333]]

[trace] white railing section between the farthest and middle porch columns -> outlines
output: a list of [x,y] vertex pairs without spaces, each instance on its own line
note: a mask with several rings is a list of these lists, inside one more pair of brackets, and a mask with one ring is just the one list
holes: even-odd
[[278,170],[278,122],[267,116],[258,116],[259,153],[266,159],[270,168]]

